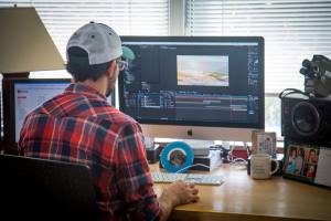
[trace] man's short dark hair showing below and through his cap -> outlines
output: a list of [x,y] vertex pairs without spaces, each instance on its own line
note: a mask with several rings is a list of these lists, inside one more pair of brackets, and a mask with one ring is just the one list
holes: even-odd
[[76,82],[84,82],[86,80],[97,81],[108,69],[111,61],[93,64],[88,63],[87,52],[78,46],[72,46],[67,50],[68,61],[66,70]]

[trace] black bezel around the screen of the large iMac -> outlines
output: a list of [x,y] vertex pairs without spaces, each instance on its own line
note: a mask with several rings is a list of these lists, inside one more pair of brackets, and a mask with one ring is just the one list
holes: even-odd
[[[256,124],[253,123],[216,123],[216,122],[191,122],[191,120],[170,120],[170,119],[137,119],[141,124],[147,125],[177,125],[177,126],[197,126],[197,127],[225,127],[225,128],[248,128],[248,129],[264,129],[265,128],[265,44],[264,38],[261,36],[121,36],[124,45],[130,45],[130,42],[147,42],[147,43],[162,43],[162,42],[205,42],[205,43],[257,43],[258,44],[258,67],[259,67],[259,83],[260,86],[257,88],[260,102],[260,112],[258,114],[258,120]],[[124,104],[124,74],[119,75],[119,108],[126,113]],[[188,130],[189,134],[189,130]]]

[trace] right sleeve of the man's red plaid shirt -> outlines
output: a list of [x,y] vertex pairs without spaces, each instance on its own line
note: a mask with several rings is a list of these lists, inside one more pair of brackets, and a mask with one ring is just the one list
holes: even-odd
[[117,146],[117,185],[132,220],[159,220],[161,209],[152,189],[140,126],[127,124],[119,133]]

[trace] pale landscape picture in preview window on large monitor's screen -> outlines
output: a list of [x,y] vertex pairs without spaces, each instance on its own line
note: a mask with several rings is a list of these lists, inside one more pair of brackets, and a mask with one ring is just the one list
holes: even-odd
[[228,86],[228,56],[177,55],[178,85]]

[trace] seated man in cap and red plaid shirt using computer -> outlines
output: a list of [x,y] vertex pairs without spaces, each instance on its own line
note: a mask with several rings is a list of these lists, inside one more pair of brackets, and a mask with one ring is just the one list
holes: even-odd
[[197,189],[182,181],[157,198],[139,124],[106,101],[125,67],[120,57],[134,59],[117,33],[85,24],[66,55],[74,83],[26,116],[20,154],[88,165],[102,220],[167,220],[175,206],[196,201]]

